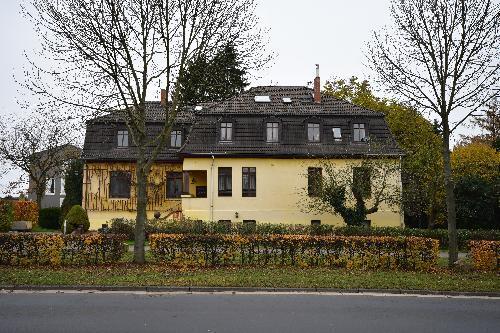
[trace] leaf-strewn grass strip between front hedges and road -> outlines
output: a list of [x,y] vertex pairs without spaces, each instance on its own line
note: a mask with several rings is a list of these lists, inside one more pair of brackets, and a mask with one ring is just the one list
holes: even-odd
[[[131,254],[127,254],[124,261],[130,259]],[[0,266],[0,284],[500,291],[500,278],[495,273],[450,271],[442,267],[444,261],[439,264],[440,267],[429,273],[294,267],[179,269],[157,263],[141,266],[129,262],[99,267]]]

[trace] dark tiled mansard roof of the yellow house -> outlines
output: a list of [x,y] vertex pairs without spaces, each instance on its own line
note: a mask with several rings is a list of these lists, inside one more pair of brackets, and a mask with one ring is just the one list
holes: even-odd
[[[182,151],[165,147],[159,161],[180,161],[184,156],[210,154],[227,156],[341,157],[360,155],[399,156],[383,114],[330,96],[314,103],[313,90],[297,86],[255,87],[219,103],[205,103],[202,108],[186,108],[177,116],[176,129],[188,138]],[[255,96],[269,96],[259,103]],[[283,98],[291,99],[290,103]],[[164,120],[159,102],[148,102],[148,133],[154,135]],[[219,142],[221,121],[233,123],[231,143]],[[267,143],[265,124],[280,125],[279,143]],[[307,143],[307,123],[321,124],[321,142]],[[352,142],[353,124],[364,123],[369,143]],[[333,139],[332,127],[342,130],[342,142]],[[126,129],[120,113],[96,118],[87,124],[83,158],[87,160],[134,160],[135,148],[116,148],[116,131]],[[189,135],[188,135],[189,133]],[[130,140],[129,140],[130,141]],[[170,142],[169,142],[170,143]]]

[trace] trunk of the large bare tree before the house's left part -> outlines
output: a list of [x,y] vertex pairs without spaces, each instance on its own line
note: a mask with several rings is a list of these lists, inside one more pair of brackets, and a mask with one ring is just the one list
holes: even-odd
[[147,180],[148,172],[144,169],[144,163],[137,161],[137,216],[135,220],[135,235],[134,235],[134,262],[143,264],[145,259],[144,253],[144,226],[147,220],[146,208],[148,204]]

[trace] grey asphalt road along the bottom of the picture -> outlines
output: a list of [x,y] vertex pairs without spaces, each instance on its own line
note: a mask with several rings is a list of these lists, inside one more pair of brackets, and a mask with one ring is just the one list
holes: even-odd
[[500,332],[500,299],[2,292],[0,332]]

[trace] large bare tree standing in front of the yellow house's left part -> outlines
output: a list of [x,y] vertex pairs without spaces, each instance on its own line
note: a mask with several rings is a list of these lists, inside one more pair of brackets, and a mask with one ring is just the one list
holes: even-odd
[[[227,43],[248,64],[268,58],[263,50],[255,0],[30,0],[26,14],[44,38],[44,51],[57,70],[41,69],[58,83],[28,82],[53,107],[120,110],[136,146],[137,218],[134,261],[144,262],[147,178],[170,135],[179,110],[180,81],[188,63],[211,56]],[[249,65],[248,67],[251,67]],[[35,73],[40,73],[35,71]],[[42,82],[42,83],[41,83]],[[165,88],[163,126],[146,128],[146,99],[156,85]],[[59,91],[68,93],[60,94]],[[70,96],[70,98],[68,98]],[[75,96],[71,98],[72,96]]]

